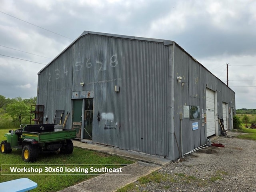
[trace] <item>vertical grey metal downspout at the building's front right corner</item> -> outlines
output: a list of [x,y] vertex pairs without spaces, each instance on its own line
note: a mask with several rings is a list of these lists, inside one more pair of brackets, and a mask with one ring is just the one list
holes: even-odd
[[174,153],[174,47],[169,48],[168,60],[168,159],[175,160]]

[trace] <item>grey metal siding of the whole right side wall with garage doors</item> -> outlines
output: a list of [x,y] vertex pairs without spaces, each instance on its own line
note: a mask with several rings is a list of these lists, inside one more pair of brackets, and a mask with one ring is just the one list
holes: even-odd
[[[211,74],[206,68],[196,62],[179,46],[175,47],[175,72],[177,76],[182,76],[184,85],[181,82],[174,80],[174,95],[175,95],[175,116],[174,132],[180,145],[180,121],[179,114],[183,113],[183,106],[200,106],[200,114],[202,109],[206,110],[206,88],[217,93],[218,114],[222,114],[222,102],[232,100],[234,107],[235,95],[225,84]],[[192,122],[198,122],[199,129],[192,130]],[[183,150],[184,153],[206,143],[206,127],[202,126],[202,114],[198,120],[190,120],[184,118],[183,120]],[[175,147],[175,154],[178,158],[178,147]]]

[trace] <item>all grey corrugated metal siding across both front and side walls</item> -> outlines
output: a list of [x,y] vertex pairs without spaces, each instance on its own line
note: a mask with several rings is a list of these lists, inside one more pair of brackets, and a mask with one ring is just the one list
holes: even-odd
[[[169,43],[169,46],[172,45]],[[164,46],[164,41],[143,38],[99,34],[81,36],[41,70],[38,104],[45,106],[44,116],[52,122],[55,110],[71,112],[72,93],[92,91],[92,142],[158,156],[168,156],[168,152],[174,150],[178,158],[176,142],[175,146],[168,148],[168,135],[172,137],[168,133],[168,100],[171,99],[168,95],[169,46]],[[174,133],[179,145],[179,114],[184,105],[196,105],[205,110],[206,87],[221,90],[217,92],[219,103],[231,103],[232,98],[232,107],[235,100],[234,92],[182,48],[175,47]],[[176,76],[182,76],[182,82],[178,82]],[[82,82],[84,86],[80,85]],[[114,91],[115,85],[120,86],[120,92]],[[220,111],[222,109],[218,106]],[[71,119],[70,116],[67,122],[70,127]],[[192,122],[197,121],[199,129],[192,131]],[[184,118],[183,125],[184,153],[206,142],[207,124],[202,126],[201,119],[190,121]]]

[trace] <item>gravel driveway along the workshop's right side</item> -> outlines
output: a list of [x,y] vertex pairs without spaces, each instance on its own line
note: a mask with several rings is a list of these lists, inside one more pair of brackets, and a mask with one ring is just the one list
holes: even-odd
[[135,182],[146,192],[256,192],[256,141],[228,132],[212,140],[225,147],[207,147],[158,170],[155,182]]

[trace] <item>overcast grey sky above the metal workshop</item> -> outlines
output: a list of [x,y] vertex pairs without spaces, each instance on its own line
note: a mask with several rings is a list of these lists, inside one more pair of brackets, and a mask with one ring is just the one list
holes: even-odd
[[224,83],[228,63],[236,108],[256,108],[254,0],[0,0],[0,5],[0,95],[6,98],[36,96],[37,73],[86,30],[173,40]]

